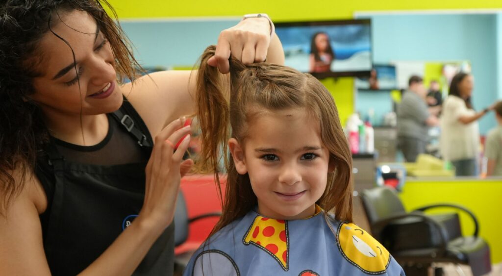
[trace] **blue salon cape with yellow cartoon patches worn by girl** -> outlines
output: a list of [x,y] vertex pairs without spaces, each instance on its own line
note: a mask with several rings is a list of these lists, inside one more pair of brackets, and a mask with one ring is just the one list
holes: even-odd
[[[317,207],[317,206],[316,206]],[[211,236],[184,276],[405,275],[378,241],[317,207],[314,216],[276,220],[250,211]]]

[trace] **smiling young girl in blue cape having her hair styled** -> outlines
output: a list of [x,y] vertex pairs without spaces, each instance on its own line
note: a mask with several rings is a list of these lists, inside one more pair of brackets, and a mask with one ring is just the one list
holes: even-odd
[[212,53],[197,81],[199,166],[217,173],[221,149],[231,156],[223,214],[184,275],[404,275],[351,223],[351,155],[326,88],[288,67],[231,60],[228,95],[206,65]]

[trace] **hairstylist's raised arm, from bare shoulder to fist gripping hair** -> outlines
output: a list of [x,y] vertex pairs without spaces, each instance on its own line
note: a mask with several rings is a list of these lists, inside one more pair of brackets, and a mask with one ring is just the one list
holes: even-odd
[[[281,42],[275,33],[270,36],[270,28],[265,18],[248,18],[222,31],[212,65],[228,72],[230,53],[247,63],[267,58],[267,62],[284,64]],[[155,135],[172,120],[195,113],[196,79],[196,70],[162,71],[125,84],[122,91]]]

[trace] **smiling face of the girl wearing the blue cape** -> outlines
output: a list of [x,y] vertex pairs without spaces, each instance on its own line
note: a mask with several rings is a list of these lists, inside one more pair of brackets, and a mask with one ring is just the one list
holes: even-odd
[[330,170],[319,121],[304,108],[267,112],[248,133],[243,145],[231,139],[229,146],[237,172],[249,175],[258,212],[275,219],[312,216]]

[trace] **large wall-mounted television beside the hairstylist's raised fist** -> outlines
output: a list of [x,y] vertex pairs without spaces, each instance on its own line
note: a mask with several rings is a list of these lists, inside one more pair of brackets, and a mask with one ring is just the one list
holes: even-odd
[[276,23],[285,64],[318,78],[369,77],[369,19]]

